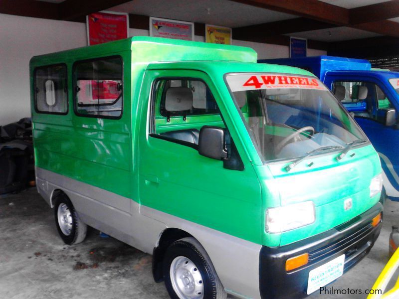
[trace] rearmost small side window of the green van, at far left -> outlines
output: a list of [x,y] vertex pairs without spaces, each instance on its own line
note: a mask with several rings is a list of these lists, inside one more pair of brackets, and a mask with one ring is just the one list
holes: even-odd
[[34,100],[37,112],[66,114],[68,89],[66,65],[39,67],[34,70]]

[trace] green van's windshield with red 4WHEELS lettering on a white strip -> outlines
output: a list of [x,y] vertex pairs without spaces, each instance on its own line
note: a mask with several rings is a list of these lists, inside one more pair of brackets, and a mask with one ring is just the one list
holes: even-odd
[[337,99],[314,77],[235,73],[228,74],[226,81],[264,161],[302,157],[326,147],[342,150],[366,139]]

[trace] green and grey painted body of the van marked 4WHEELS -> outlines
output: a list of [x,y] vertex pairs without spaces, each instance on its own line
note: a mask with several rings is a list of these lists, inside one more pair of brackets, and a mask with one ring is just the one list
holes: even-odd
[[[226,291],[242,298],[304,295],[306,288],[298,272],[289,275],[284,268],[272,269],[273,263],[281,260],[284,265],[292,253],[301,253],[310,245],[325,245],[322,242],[329,238],[339,243],[342,234],[363,229],[382,211],[380,193],[369,196],[370,181],[381,172],[370,143],[351,149],[349,153],[355,155],[342,160],[331,153],[310,157],[312,167],[300,163],[289,172],[284,170],[289,161],[264,163],[225,82],[229,73],[313,77],[310,72],[257,64],[256,52],[244,47],[133,37],[35,56],[30,61],[31,86],[35,68],[62,63],[67,67],[67,85],[72,87],[76,61],[109,56],[123,60],[119,119],[76,115],[72,88],[68,88],[65,115],[39,113],[31,88],[37,188],[50,206],[61,190],[84,223],[149,253],[155,254],[166,236],[193,236],[206,250]],[[224,122],[242,160],[242,171],[224,168],[223,161],[200,155],[192,147],[151,136],[153,84],[157,78],[170,77],[205,82],[223,120],[214,115],[188,115],[184,121],[172,116],[167,122],[156,109],[157,132],[166,132],[171,126],[179,130],[200,130],[204,124],[223,127]],[[282,130],[280,134],[288,133]],[[349,197],[353,207],[344,210]],[[314,223],[282,233],[265,230],[268,208],[303,201],[314,202]],[[381,224],[368,229],[353,241],[367,239],[370,243],[366,242],[367,248],[357,248],[361,257],[371,249]],[[311,269],[340,254],[337,249],[309,264],[300,277],[306,276],[307,281]],[[265,274],[265,268],[275,273],[275,278]],[[162,280],[156,271],[154,274],[157,281]],[[278,279],[284,281],[276,282]],[[265,290],[273,284],[274,290]]]

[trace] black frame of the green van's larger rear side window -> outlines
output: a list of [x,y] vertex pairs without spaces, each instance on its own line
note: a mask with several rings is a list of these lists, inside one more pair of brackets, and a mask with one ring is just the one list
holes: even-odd
[[[84,62],[93,62],[93,61],[98,61],[98,60],[107,60],[110,58],[119,58],[121,61],[121,66],[122,66],[122,92],[121,92],[121,96],[118,97],[113,103],[112,105],[114,105],[118,100],[121,100],[121,114],[119,116],[110,116],[110,115],[90,115],[90,114],[83,114],[83,113],[79,113],[77,110],[77,97],[76,97],[76,87],[77,87],[77,81],[76,81],[76,66],[79,63],[84,63]],[[101,119],[112,119],[112,120],[119,120],[122,118],[123,116],[123,111],[124,111],[124,90],[125,90],[125,81],[124,81],[124,73],[125,73],[125,68],[124,68],[124,61],[123,61],[123,57],[121,55],[111,55],[111,56],[102,56],[102,57],[96,57],[96,58],[89,58],[89,59],[83,59],[83,60],[76,60],[73,62],[72,64],[72,101],[73,101],[73,111],[75,113],[76,116],[79,117],[87,117],[87,118],[101,118]],[[104,104],[104,103],[103,103]],[[106,104],[106,105],[101,105],[101,104],[90,104],[90,105],[85,105],[85,106],[107,106],[110,104]]]

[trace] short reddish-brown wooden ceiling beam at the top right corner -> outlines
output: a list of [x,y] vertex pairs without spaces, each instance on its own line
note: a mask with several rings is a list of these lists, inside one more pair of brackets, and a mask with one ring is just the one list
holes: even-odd
[[360,24],[399,16],[399,0],[391,0],[349,9],[349,22]]

